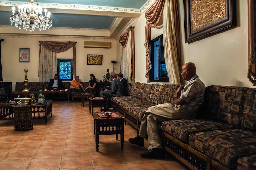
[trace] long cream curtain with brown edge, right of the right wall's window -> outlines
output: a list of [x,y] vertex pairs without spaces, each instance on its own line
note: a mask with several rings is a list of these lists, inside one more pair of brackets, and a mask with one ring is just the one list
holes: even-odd
[[178,13],[176,0],[165,0],[163,11],[164,59],[170,83],[180,85],[180,24]]

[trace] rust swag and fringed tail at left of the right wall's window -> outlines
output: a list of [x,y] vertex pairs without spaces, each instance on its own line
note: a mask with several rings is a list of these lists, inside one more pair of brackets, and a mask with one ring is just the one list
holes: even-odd
[[156,0],[156,2],[145,12],[146,26],[145,26],[145,43],[146,48],[146,74],[147,82],[149,80],[149,71],[152,68],[150,60],[150,40],[151,40],[151,28],[161,28],[163,23],[162,13],[164,8],[164,0]]

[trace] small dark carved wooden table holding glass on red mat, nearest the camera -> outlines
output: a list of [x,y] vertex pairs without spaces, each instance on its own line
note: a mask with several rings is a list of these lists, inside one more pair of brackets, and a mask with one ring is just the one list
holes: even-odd
[[116,140],[118,140],[118,134],[120,134],[121,149],[124,148],[124,117],[115,113],[120,117],[100,117],[97,113],[93,113],[97,152],[99,151],[99,135],[116,135]]

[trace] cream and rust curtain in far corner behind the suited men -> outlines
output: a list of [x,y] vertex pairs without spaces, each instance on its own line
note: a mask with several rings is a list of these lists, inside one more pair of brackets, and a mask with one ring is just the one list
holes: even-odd
[[135,82],[134,27],[131,26],[120,36],[119,43],[122,45],[120,71],[128,82]]

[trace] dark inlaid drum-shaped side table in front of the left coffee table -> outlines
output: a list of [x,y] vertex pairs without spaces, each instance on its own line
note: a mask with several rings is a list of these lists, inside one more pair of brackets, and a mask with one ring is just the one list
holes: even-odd
[[32,106],[13,106],[14,130],[28,131],[33,130]]

